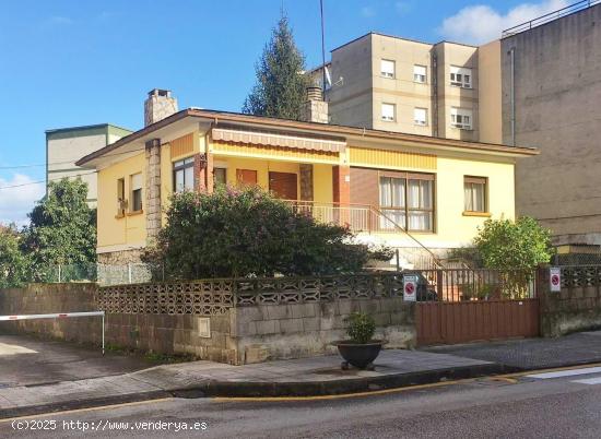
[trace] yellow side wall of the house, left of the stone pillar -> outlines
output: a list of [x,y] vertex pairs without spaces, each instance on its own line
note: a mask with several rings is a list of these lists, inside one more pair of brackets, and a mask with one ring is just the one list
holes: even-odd
[[[141,246],[146,240],[144,214],[126,215],[117,218],[118,193],[117,181],[125,179],[126,198],[131,205],[130,176],[142,173],[142,181],[145,181],[144,154],[138,154],[130,158],[109,166],[98,171],[98,251],[115,251],[114,247]],[[145,192],[142,188],[142,210],[144,209]]]

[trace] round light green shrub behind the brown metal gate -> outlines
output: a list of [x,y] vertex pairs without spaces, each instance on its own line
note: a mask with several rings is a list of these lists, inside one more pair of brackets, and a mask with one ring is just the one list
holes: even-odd
[[551,232],[529,216],[516,222],[487,220],[474,239],[484,265],[498,270],[532,270],[550,261]]

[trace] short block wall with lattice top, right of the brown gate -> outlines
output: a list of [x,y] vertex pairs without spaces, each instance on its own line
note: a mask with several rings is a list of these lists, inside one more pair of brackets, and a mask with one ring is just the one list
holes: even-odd
[[601,328],[600,269],[562,269],[562,290],[550,292],[549,270],[539,272],[541,335],[559,336]]

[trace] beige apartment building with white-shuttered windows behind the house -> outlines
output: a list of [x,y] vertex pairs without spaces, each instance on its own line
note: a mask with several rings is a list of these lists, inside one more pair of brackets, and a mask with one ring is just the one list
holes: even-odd
[[[366,34],[331,52],[330,122],[500,143],[499,54],[498,41],[432,45]],[[321,69],[309,74],[322,83]]]

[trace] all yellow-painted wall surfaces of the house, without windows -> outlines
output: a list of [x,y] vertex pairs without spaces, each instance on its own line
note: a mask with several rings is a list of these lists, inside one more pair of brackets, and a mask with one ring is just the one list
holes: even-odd
[[[189,139],[188,139],[189,140]],[[193,153],[204,151],[205,139],[198,132],[195,133]],[[357,145],[358,146],[358,145]],[[357,146],[350,147],[352,165],[357,165],[353,159],[353,151]],[[172,169],[173,162],[184,156],[172,157],[173,146],[164,144],[161,153],[162,175],[162,202],[163,212],[168,207],[168,199],[173,191]],[[432,173],[436,175],[435,185],[435,232],[414,233],[414,235],[427,247],[444,248],[467,245],[474,237],[476,227],[482,225],[486,217],[463,215],[463,177],[475,176],[488,179],[488,211],[493,218],[514,218],[514,161],[509,158],[476,156],[468,153],[428,154],[426,150],[420,159],[409,159],[406,153],[398,152],[402,158],[391,157],[390,151],[386,154],[365,155],[369,164],[363,166],[380,169],[401,169],[400,164],[406,162],[405,170]],[[404,154],[404,155],[403,155]],[[189,155],[188,155],[189,156]],[[355,158],[357,155],[355,154]],[[365,159],[367,159],[365,158]],[[404,161],[404,162],[403,162]],[[294,162],[270,161],[261,158],[247,158],[231,155],[214,155],[215,167],[227,168],[227,182],[236,185],[236,169],[257,170],[258,183],[269,188],[269,171],[299,174],[299,165]],[[126,215],[116,218],[117,214],[117,180],[125,178],[126,195],[130,198],[129,177],[139,171],[144,173],[145,157],[140,153],[134,157],[121,161],[118,164],[98,173],[98,250],[116,251],[115,247],[140,246],[145,242],[145,216],[143,214]],[[143,175],[145,181],[145,175]],[[298,194],[300,194],[299,177]],[[314,200],[321,203],[331,203],[332,197],[332,165],[314,164]],[[143,193],[145,201],[145,193]],[[165,220],[165,214],[163,214]],[[414,244],[403,234],[381,234],[381,237],[393,246],[413,246]]]

